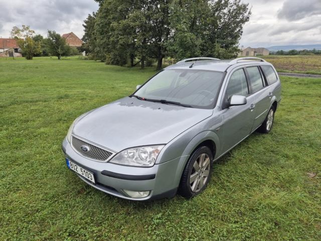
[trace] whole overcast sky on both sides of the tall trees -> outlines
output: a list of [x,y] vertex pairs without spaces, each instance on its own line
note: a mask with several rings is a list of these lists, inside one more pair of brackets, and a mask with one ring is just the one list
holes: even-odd
[[[321,44],[321,0],[242,0],[252,7],[240,45],[270,47]],[[83,21],[95,12],[93,0],[0,0],[0,36],[10,37],[13,26],[30,25],[83,36]]]

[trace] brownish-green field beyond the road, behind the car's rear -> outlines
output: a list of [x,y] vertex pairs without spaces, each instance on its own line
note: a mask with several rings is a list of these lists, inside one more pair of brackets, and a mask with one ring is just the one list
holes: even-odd
[[272,63],[278,72],[321,74],[321,56],[269,55],[262,56]]

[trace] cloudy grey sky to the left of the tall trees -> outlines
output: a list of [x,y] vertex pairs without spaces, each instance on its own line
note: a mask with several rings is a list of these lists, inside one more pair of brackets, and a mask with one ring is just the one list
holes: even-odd
[[0,36],[9,37],[13,26],[30,25],[36,33],[46,35],[47,30],[63,34],[83,35],[83,21],[97,11],[94,0],[0,0]]

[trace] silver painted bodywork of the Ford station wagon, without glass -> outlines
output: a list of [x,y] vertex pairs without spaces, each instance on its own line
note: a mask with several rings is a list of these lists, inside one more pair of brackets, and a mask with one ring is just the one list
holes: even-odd
[[[189,69],[190,65],[180,63],[166,69]],[[259,61],[244,61],[234,65],[229,65],[229,61],[197,61],[193,69],[226,72],[216,106],[212,109],[124,97],[83,114],[75,123],[73,135],[113,153],[132,147],[165,144],[152,167],[130,167],[90,160],[72,148],[67,139],[63,141],[65,156],[93,172],[96,184],[81,179],[106,193],[133,199],[125,195],[122,189],[151,191],[149,196],[139,200],[173,196],[190,155],[201,143],[213,143],[214,160],[217,160],[254,132],[264,121],[272,104],[280,102],[280,80],[272,66],[277,82],[247,96],[244,105],[223,108],[226,87],[232,73],[239,68],[260,65],[272,66]],[[255,105],[255,108],[250,108],[251,105]],[[124,180],[103,175],[103,171],[119,175],[154,175],[154,178]]]

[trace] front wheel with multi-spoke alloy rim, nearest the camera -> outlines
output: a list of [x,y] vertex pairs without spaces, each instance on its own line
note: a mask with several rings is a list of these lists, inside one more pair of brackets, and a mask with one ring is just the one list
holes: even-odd
[[208,147],[200,147],[192,154],[182,174],[179,186],[181,196],[191,198],[207,187],[212,174],[212,160]]

